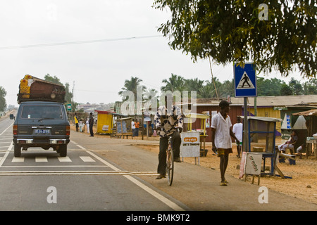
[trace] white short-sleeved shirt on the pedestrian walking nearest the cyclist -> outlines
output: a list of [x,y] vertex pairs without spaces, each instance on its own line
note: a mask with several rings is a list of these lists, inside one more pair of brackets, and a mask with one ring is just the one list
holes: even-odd
[[220,113],[211,118],[211,128],[216,129],[215,146],[217,148],[232,148],[230,127],[232,127],[229,115],[224,119]]

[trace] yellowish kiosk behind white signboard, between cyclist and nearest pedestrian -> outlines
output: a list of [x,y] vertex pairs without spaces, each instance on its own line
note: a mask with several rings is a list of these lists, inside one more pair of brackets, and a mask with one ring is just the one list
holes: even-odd
[[[188,113],[185,114],[185,118],[187,119],[187,131],[192,131],[192,119],[200,119],[201,120],[201,132],[199,135],[200,138],[200,149],[202,151],[202,156],[207,155],[206,150],[206,137],[208,136],[206,133],[206,120],[210,119],[210,115],[208,114],[199,114],[199,113]],[[210,120],[209,120],[210,121]]]

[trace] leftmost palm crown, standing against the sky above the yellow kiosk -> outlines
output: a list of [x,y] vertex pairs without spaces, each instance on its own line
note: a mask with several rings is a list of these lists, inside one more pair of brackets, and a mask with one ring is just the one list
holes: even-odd
[[[123,101],[128,100],[129,94],[134,95],[134,101],[137,101],[137,91],[142,91],[141,94],[143,94],[144,91],[146,91],[146,87],[143,85],[140,85],[140,82],[142,82],[142,79],[139,79],[137,77],[131,77],[131,79],[125,80],[125,85],[123,86],[122,91],[119,91],[118,94],[123,97]],[[131,91],[129,93],[129,91]],[[128,94],[128,95],[127,95]]]

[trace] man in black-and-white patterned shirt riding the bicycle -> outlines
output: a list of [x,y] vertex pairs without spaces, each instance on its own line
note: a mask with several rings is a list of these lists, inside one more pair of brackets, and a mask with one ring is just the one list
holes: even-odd
[[[182,113],[180,108],[173,105],[173,95],[165,96],[165,105],[158,108],[154,116],[154,124],[160,136],[159,165],[156,179],[166,177],[166,150],[168,148],[168,136],[172,136],[173,153],[175,162],[180,161],[180,133],[182,132]],[[162,129],[163,127],[163,129]]]

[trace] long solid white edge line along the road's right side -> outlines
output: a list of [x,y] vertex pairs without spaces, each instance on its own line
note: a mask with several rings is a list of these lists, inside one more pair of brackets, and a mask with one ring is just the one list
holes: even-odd
[[[72,141],[72,142],[75,143],[75,141]],[[109,162],[106,162],[106,160],[103,160],[98,155],[95,155],[94,153],[90,152],[86,148],[78,145],[77,143],[75,143],[75,145],[78,146],[79,148],[81,148],[82,150],[86,150],[87,153],[89,153],[90,155],[94,156],[94,158],[97,158],[97,160],[103,162],[105,165],[108,165],[109,167],[111,167],[111,169],[115,170],[116,172],[120,171],[120,169],[118,169],[117,167],[111,165]],[[171,200],[168,200],[168,198],[164,197],[160,193],[158,193],[158,192],[154,191],[153,189],[149,188],[148,186],[142,184],[140,181],[138,181],[137,179],[133,178],[132,176],[130,176],[130,175],[124,175],[124,176],[125,176],[125,178],[129,179],[134,184],[136,184],[137,186],[142,188],[144,191],[147,191],[147,193],[149,193],[149,194],[153,195],[155,198],[159,199],[162,203],[165,203],[166,205],[168,205],[168,207],[172,208],[173,210],[175,210],[175,211],[185,211],[185,209],[183,209],[179,205],[173,203]]]

